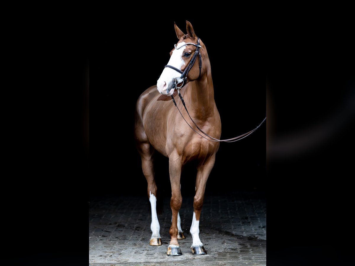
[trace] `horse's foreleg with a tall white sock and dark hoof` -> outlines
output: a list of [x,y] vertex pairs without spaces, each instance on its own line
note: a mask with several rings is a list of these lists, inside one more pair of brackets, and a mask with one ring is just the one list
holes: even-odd
[[215,161],[215,156],[211,156],[206,164],[201,165],[197,168],[196,176],[196,193],[193,198],[193,217],[192,224],[190,228],[190,233],[192,235],[192,245],[191,250],[192,254],[195,255],[204,255],[207,254],[207,251],[204,249],[203,244],[200,240],[200,215],[204,199],[204,191],[206,189],[206,183],[209,174],[213,168]]

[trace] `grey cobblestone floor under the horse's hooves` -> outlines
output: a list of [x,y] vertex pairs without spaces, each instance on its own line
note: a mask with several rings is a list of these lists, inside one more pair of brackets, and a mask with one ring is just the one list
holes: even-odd
[[189,232],[193,197],[183,198],[179,240],[182,256],[167,256],[171,225],[170,199],[158,214],[162,246],[150,246],[151,213],[145,197],[107,197],[89,203],[89,264],[102,265],[266,265],[264,196],[206,197],[200,239],[207,255],[192,255]]

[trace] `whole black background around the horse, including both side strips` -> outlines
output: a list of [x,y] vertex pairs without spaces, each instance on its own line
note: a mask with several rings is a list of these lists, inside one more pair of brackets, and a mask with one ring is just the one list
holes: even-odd
[[[10,53],[6,71],[18,71],[3,94],[10,144],[4,151],[10,166],[2,200],[5,260],[79,265],[82,258],[87,265],[88,199],[146,194],[133,141],[135,103],[169,60],[174,21],[185,32],[185,20],[207,47],[222,137],[250,131],[267,110],[267,126],[221,144],[206,194],[266,193],[270,265],[350,260],[352,15],[319,6],[278,6],[282,12],[262,15],[184,5],[139,15],[142,8],[95,10],[90,20],[81,17],[83,10],[54,20],[49,12],[13,31],[20,40],[10,43],[21,47]],[[169,195],[167,159],[156,161],[160,192]],[[193,171],[183,173],[185,195],[193,194]]]

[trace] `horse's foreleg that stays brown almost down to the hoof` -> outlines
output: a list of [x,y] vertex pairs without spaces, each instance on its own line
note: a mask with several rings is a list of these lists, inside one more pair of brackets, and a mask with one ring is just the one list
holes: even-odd
[[178,213],[181,208],[182,197],[180,191],[180,175],[181,175],[181,158],[169,156],[169,173],[171,183],[171,200],[170,207],[173,213],[173,219],[171,222],[170,233],[170,245],[168,246],[168,256],[180,256],[182,255],[180,246],[178,243]]

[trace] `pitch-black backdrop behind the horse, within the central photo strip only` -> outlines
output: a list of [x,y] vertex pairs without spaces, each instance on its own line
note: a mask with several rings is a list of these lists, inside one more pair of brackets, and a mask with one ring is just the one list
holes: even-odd
[[[187,19],[206,45],[211,61],[221,138],[250,131],[266,116],[261,28],[236,30],[231,21]],[[89,175],[105,185],[90,182],[89,193],[146,195],[147,182],[133,137],[135,105],[138,96],[156,84],[178,39],[173,19],[112,22],[115,26],[95,28],[92,46]],[[186,33],[185,20],[175,22]],[[158,153],[155,177],[160,193],[170,195],[168,159]],[[193,194],[195,177],[195,166],[187,166],[181,176],[183,195]],[[243,140],[221,143],[206,194],[264,190],[265,184],[266,123]]]

